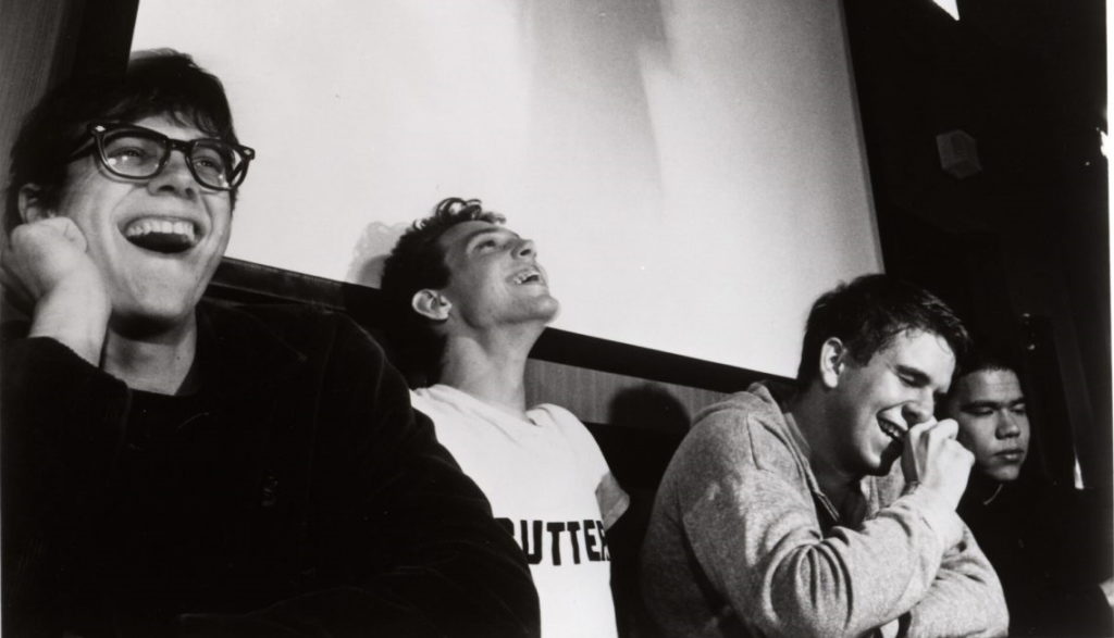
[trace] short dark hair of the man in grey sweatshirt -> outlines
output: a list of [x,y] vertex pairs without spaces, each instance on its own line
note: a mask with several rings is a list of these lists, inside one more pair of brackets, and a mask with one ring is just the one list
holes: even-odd
[[955,311],[920,286],[880,274],[840,284],[812,304],[797,381],[804,387],[817,379],[820,349],[830,337],[838,337],[854,361],[866,364],[908,330],[944,337],[957,362],[970,349],[970,336]]

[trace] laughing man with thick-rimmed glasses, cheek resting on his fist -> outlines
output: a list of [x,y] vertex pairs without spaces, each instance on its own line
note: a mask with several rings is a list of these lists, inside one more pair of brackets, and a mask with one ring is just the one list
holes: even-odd
[[254,151],[184,55],[12,153],[4,636],[531,636],[521,553],[351,321],[203,302]]

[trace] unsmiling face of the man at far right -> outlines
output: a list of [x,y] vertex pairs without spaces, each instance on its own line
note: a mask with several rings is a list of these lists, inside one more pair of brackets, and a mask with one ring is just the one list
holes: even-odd
[[948,397],[948,414],[959,422],[958,440],[975,454],[980,472],[1000,482],[1020,475],[1029,450],[1029,416],[1014,371],[964,375]]

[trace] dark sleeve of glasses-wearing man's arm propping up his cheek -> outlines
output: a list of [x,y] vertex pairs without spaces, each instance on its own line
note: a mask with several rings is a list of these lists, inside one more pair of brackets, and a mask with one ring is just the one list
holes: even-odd
[[68,561],[105,507],[130,395],[52,338],[6,340],[2,361],[3,632],[60,634]]

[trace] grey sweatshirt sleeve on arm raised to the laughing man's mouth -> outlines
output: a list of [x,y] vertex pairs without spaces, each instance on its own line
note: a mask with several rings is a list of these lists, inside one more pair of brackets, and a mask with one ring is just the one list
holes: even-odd
[[937,590],[941,602],[952,600],[950,572],[938,583],[945,547],[922,516],[925,497],[902,497],[857,529],[825,533],[807,462],[771,419],[781,415],[707,415],[685,446],[688,467],[675,474],[693,554],[742,622],[770,636],[860,636],[934,600]]

